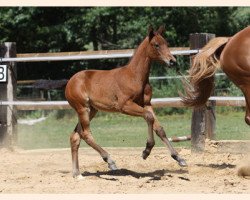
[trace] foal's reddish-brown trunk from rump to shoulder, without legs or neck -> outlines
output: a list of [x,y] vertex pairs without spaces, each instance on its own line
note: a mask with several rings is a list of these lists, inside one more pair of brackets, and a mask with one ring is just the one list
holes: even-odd
[[83,70],[68,81],[65,95],[75,109],[81,105],[119,112],[122,102],[126,100],[125,96],[133,93],[129,92],[133,89],[130,76],[126,66],[112,70]]

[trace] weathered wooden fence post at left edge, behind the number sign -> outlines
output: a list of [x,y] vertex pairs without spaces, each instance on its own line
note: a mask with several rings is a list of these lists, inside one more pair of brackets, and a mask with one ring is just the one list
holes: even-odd
[[[16,44],[6,42],[0,44],[1,58],[16,57]],[[2,106],[1,101],[14,101],[16,99],[17,71],[14,62],[0,63],[6,65],[6,82],[0,82],[0,147],[12,148],[16,143],[16,108],[15,106]]]

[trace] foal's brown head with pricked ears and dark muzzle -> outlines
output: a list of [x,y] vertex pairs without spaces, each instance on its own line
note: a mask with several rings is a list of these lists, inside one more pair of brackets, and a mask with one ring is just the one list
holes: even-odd
[[149,45],[147,48],[148,56],[152,60],[164,61],[171,66],[176,64],[175,57],[170,53],[167,41],[163,38],[165,28],[161,26],[157,31],[150,26],[148,30]]

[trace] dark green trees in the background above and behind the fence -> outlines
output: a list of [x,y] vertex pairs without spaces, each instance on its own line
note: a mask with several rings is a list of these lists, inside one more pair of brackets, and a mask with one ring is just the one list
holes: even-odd
[[[0,42],[16,42],[18,53],[136,48],[149,24],[163,24],[170,46],[188,46],[190,33],[232,35],[249,18],[248,7],[1,7]],[[127,61],[19,63],[18,79],[69,78]]]

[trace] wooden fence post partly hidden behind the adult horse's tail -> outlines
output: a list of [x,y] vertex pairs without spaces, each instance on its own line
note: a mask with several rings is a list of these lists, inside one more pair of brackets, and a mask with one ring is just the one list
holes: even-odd
[[[189,35],[190,49],[201,49],[208,41],[215,37],[211,33],[194,33]],[[214,102],[209,106],[194,109],[191,123],[191,148],[192,151],[201,152],[205,148],[206,137],[214,137],[215,129]]]

